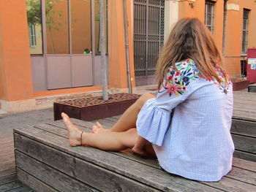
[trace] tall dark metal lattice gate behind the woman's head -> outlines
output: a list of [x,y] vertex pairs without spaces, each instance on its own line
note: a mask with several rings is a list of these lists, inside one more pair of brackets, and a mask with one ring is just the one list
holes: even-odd
[[164,42],[165,0],[134,1],[136,85],[154,83],[157,56]]

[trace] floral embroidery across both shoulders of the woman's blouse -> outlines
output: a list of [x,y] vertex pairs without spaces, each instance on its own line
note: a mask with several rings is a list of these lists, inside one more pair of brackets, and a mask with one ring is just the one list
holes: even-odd
[[[189,85],[191,80],[203,78],[203,76],[198,72],[195,62],[192,59],[176,63],[176,68],[178,69],[178,72],[173,67],[170,67],[169,72],[167,73],[167,78],[161,85],[159,93],[166,90],[170,96],[173,94],[176,96],[179,96],[180,94],[182,95],[187,91],[187,85]],[[231,84],[230,78],[227,74],[223,75],[219,67],[216,67],[215,69],[222,82],[219,83],[217,80],[206,81],[213,81],[222,93],[227,94],[228,88]]]

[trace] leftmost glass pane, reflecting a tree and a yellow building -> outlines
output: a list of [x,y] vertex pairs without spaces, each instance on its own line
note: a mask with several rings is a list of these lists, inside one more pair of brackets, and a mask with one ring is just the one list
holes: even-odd
[[26,0],[30,54],[42,54],[41,1]]

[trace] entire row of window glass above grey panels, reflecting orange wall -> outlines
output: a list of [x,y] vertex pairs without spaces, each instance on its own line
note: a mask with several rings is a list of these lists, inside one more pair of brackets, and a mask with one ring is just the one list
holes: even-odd
[[[42,23],[45,23],[47,54],[88,54],[99,47],[99,0],[26,0],[30,53],[42,54]],[[105,0],[105,53],[108,52],[108,0]],[[94,10],[91,4],[94,3]],[[94,16],[94,25],[91,18]],[[93,28],[94,26],[94,28]],[[94,34],[94,35],[92,35]],[[93,38],[94,37],[94,41]]]

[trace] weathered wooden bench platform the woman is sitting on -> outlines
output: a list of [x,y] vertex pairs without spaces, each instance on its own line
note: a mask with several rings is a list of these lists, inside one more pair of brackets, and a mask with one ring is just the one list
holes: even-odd
[[[105,126],[117,117],[105,118]],[[91,131],[93,123],[72,119]],[[184,179],[159,169],[157,160],[129,150],[106,152],[70,147],[61,120],[14,130],[18,180],[35,191],[256,191],[256,163],[233,158],[233,169],[218,183]]]

